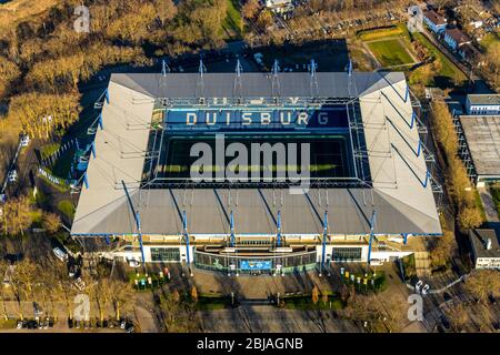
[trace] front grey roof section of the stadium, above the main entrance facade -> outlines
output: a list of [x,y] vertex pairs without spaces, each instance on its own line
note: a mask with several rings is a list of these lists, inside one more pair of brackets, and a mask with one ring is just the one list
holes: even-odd
[[[229,234],[231,211],[236,233],[247,235],[276,234],[278,211],[281,211],[283,234],[320,234],[326,211],[329,233],[368,234],[373,210],[377,211],[376,233],[439,231],[439,221],[373,189],[313,189],[298,195],[290,194],[288,189],[239,189],[231,194],[231,204],[229,190],[219,189],[136,190],[131,195],[141,215],[143,234],[180,235],[182,211],[188,215],[188,232],[194,235]],[[89,215],[87,221],[94,224],[87,224],[84,231],[73,231],[73,234],[137,233],[126,197],[112,204],[109,213],[101,210]]]

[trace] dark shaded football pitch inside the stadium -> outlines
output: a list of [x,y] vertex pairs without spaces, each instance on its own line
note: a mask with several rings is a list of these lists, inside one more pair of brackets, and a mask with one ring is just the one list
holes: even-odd
[[[164,143],[164,149],[161,152],[160,163],[158,166],[158,178],[167,180],[190,179],[191,172],[207,172],[212,173],[219,171],[221,168],[216,163],[216,140],[214,136],[170,136]],[[199,158],[201,154],[190,156],[192,146],[196,143],[207,143],[212,152],[212,165],[200,165]],[[303,143],[309,143],[310,146],[310,176],[311,178],[350,178],[352,176],[352,163],[350,158],[350,144],[347,135],[321,135],[321,136],[304,136],[304,135],[287,135],[277,138],[272,135],[248,136],[248,135],[228,135],[224,138],[224,148],[231,143],[240,143],[246,148],[247,158],[240,156],[239,151],[236,154],[227,153],[224,164],[237,174],[247,171],[251,176],[256,171],[260,171],[260,176],[263,178],[264,171],[272,172],[272,176],[282,176],[287,171],[300,172],[301,165],[301,148]],[[252,144],[269,143],[270,146],[262,148],[260,156],[257,156],[259,163],[256,164],[256,156],[252,153]],[[279,150],[276,144],[282,143],[286,152],[287,162],[278,162],[276,151]],[[297,153],[293,156],[289,153],[288,143],[297,143]],[[240,145],[241,146],[241,145]],[[273,151],[270,153],[270,151]],[[268,155],[272,154],[272,155]],[[267,159],[271,159],[271,163]],[[204,158],[204,156],[203,156]],[[236,164],[232,162],[236,158],[242,159]],[[291,164],[290,159],[296,159],[296,163]],[[232,162],[232,163],[231,163]],[[233,164],[230,166],[230,163]],[[230,166],[230,168],[229,168]],[[281,175],[278,175],[281,173]]]

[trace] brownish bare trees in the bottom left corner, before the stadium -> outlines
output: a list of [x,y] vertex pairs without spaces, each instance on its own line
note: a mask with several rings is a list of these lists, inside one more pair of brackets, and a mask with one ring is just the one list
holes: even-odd
[[[78,294],[87,295],[90,301],[90,315],[100,325],[110,316],[117,321],[130,314],[136,302],[136,292],[128,282],[113,280],[102,274],[98,267],[98,276],[86,275],[84,290],[78,290],[71,277],[68,276],[68,267],[58,261],[46,260],[43,262],[24,257],[22,261],[10,265],[0,260],[0,274],[8,275],[7,283],[0,285],[0,314],[8,320],[7,302],[16,302],[18,318],[24,321],[32,313],[27,314],[22,306],[26,303],[37,303],[44,311],[44,316],[59,321],[58,310],[61,305],[66,308],[67,320],[76,321],[74,297]],[[103,268],[102,268],[103,270]],[[63,321],[67,321],[63,320]],[[89,320],[90,321],[90,320]]]

